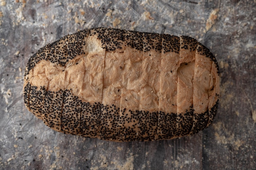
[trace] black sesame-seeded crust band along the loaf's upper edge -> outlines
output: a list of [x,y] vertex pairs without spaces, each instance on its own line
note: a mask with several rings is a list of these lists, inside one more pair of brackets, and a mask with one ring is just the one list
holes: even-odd
[[[82,49],[81,46],[83,46],[83,44],[85,44],[85,42],[83,41],[83,39],[89,34],[92,34],[92,32],[97,33],[98,34],[98,38],[101,39],[101,43],[102,43],[102,47],[103,49],[106,49],[106,51],[115,51],[116,49],[121,49],[121,43],[120,41],[124,41],[125,39],[125,33],[127,32],[133,32],[136,33],[138,35],[138,38],[143,38],[146,37],[147,42],[144,42],[144,46],[148,45],[145,49],[145,51],[149,51],[151,49],[155,49],[156,51],[158,51],[159,53],[161,53],[162,48],[164,48],[164,53],[169,52],[169,51],[174,51],[175,53],[179,53],[179,43],[180,42],[173,42],[173,44],[171,44],[170,48],[166,48],[166,44],[158,44],[156,47],[150,47],[150,40],[154,40],[155,38],[159,38],[162,37],[163,39],[165,39],[164,43],[166,42],[166,40],[170,39],[170,36],[175,36],[175,35],[168,35],[168,34],[160,34],[160,36],[158,36],[159,34],[157,33],[143,33],[143,32],[138,32],[138,31],[126,31],[126,30],[121,30],[121,29],[112,29],[112,28],[104,28],[104,27],[100,27],[100,28],[93,28],[93,29],[85,29],[82,31],[79,31],[77,33],[71,34],[71,35],[66,35],[63,38],[51,43],[51,44],[47,44],[46,46],[44,46],[43,48],[39,49],[33,56],[31,56],[29,58],[29,61],[27,63],[27,67],[25,69],[25,76],[28,75],[29,71],[34,68],[34,66],[41,60],[49,60],[52,63],[57,63],[60,66],[65,66],[65,64],[69,61],[74,59],[74,57],[76,57],[76,55],[85,53]],[[122,34],[121,36],[117,36],[117,34]],[[177,37],[177,36],[175,36]],[[111,38],[117,38],[115,41],[112,41]],[[126,36],[126,38],[130,38],[129,36]],[[181,47],[182,49],[189,49],[190,51],[195,51],[196,50],[196,46],[195,44],[198,44],[201,47],[198,48],[198,51],[201,52],[200,54],[204,55],[205,57],[209,57],[216,65],[217,70],[218,70],[218,74],[219,74],[219,66],[216,60],[216,57],[213,56],[213,54],[210,52],[209,49],[207,49],[207,47],[205,47],[204,45],[202,45],[200,42],[198,42],[197,40],[195,40],[194,38],[188,37],[188,36],[184,36],[182,35],[182,38],[184,40],[184,45]],[[74,41],[72,41],[72,40]],[[58,51],[56,51],[56,47],[57,46],[63,46],[63,44],[65,44],[65,41],[68,40],[68,44],[66,45],[66,49],[64,48],[63,51],[59,51],[59,53],[63,53],[63,57],[59,57],[59,58],[55,58],[56,56],[51,55],[51,53],[54,53]],[[189,44],[189,45],[187,45]],[[168,43],[167,45],[170,45],[170,43]],[[143,51],[143,49],[138,48],[136,45],[129,45],[131,48],[136,48],[137,50],[141,50]],[[70,50],[68,50],[70,49]],[[144,51],[144,52],[145,52]],[[46,55],[47,53],[47,55]],[[67,55],[67,57],[65,58],[65,55]]]

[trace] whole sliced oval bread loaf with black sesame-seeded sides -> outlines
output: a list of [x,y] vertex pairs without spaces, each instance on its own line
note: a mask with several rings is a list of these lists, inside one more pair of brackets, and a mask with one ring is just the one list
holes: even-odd
[[50,128],[110,141],[195,134],[216,115],[216,58],[197,40],[85,29],[28,61],[25,106]]

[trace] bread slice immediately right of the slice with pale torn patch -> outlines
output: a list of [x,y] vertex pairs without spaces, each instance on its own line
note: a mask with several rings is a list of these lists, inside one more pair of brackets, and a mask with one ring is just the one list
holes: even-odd
[[124,68],[124,31],[107,29],[102,38],[105,46],[103,90],[99,139],[119,139],[119,117],[121,108],[122,72]]

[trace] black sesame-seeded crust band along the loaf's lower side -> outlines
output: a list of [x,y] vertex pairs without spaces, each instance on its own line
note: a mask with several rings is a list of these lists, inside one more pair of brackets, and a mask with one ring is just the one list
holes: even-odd
[[[31,86],[31,84],[27,83],[24,89],[25,96],[27,96],[27,94],[29,93],[29,87],[33,88],[34,93],[40,93],[40,91],[37,91],[38,87]],[[44,87],[40,87],[39,90],[43,88]],[[99,125],[104,125],[106,123],[105,121],[113,119],[113,117],[115,117],[115,120],[118,122],[126,122],[128,121],[127,115],[119,116],[119,112],[116,113],[116,115],[111,114],[111,112],[106,112],[103,115],[101,115],[102,108],[110,111],[115,108],[115,105],[108,106],[100,103],[83,102],[81,99],[79,99],[79,97],[73,95],[71,91],[67,89],[65,89],[64,91],[59,90],[57,92],[46,91],[46,94],[47,95],[44,99],[45,104],[43,108],[44,123],[50,128],[54,127],[59,132],[71,135],[80,135],[82,137],[91,138],[97,137],[103,140],[115,141],[154,141],[160,139],[173,139],[180,136],[186,136],[189,134],[191,130],[191,127],[186,126],[186,122],[183,122],[184,124],[181,124],[181,128],[179,129],[176,129],[173,126],[176,126],[177,117],[180,117],[180,119],[186,121],[192,121],[187,120],[185,118],[193,114],[192,108],[188,112],[186,112],[184,116],[182,116],[181,114],[177,115],[176,113],[164,113],[162,111],[150,113],[145,110],[130,110],[132,112],[132,119],[139,121],[139,136],[136,136],[135,134],[132,133],[126,135],[124,139],[120,139],[119,135],[125,134],[125,132],[119,132],[118,124],[115,123],[112,124],[112,129],[100,129],[102,132],[107,131],[108,133],[106,133],[104,136],[99,137],[97,134],[99,130]],[[53,100],[52,96],[56,96],[56,98],[54,98]],[[24,98],[24,100],[26,99]],[[34,100],[36,100],[36,98],[34,98]],[[47,102],[50,102],[51,104],[47,104]],[[25,102],[25,105],[27,105],[27,102]],[[72,110],[73,106],[77,106],[77,108],[73,108],[74,110]],[[211,113],[209,114],[211,115],[211,121],[216,115],[217,108],[218,101],[209,111]],[[48,110],[50,110],[50,112],[53,114],[47,114],[49,112]],[[208,119],[204,119],[205,114],[206,113],[201,113],[197,115],[197,125],[196,128],[193,129],[193,134],[198,133],[200,130],[206,127]],[[99,119],[99,117],[101,117],[101,119]],[[157,124],[158,117],[160,118],[159,122],[161,123],[157,125],[157,129],[154,129],[152,127]],[[173,129],[176,130],[173,131]],[[162,132],[161,135],[157,134],[157,130]],[[153,133],[153,131],[155,133]],[[179,134],[179,136],[177,136],[177,134]]]

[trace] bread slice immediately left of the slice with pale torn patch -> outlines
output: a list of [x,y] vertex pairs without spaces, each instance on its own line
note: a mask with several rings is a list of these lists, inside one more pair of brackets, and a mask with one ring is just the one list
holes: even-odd
[[[85,61],[84,57],[86,53],[82,49],[80,43],[86,45],[88,31],[85,32],[85,36],[80,41],[76,41],[76,35],[69,37],[67,43],[67,61],[64,67],[64,97],[62,105],[62,119],[61,127],[64,133],[70,133],[72,135],[81,135],[80,121],[81,121],[81,99],[77,96],[81,93],[83,88],[83,78],[85,73]],[[77,42],[77,44],[76,44]],[[74,50],[74,48],[76,50]],[[76,51],[80,49],[78,54]],[[76,55],[75,59],[72,59],[72,55]]]

